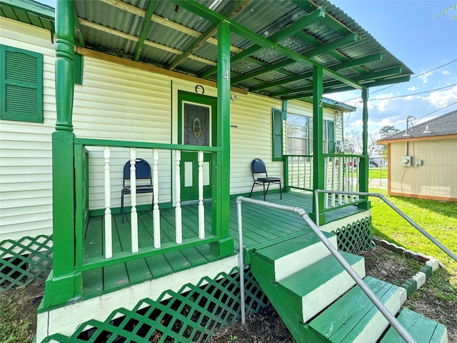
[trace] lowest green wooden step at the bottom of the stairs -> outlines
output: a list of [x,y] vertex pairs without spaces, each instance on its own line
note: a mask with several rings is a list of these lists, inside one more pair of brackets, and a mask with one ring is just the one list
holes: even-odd
[[[408,331],[417,343],[447,343],[448,332],[443,324],[435,322],[422,314],[402,309],[398,315],[398,322]],[[403,343],[403,339],[391,327],[380,343]]]

